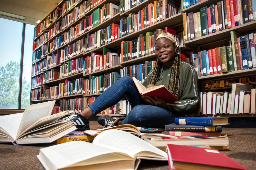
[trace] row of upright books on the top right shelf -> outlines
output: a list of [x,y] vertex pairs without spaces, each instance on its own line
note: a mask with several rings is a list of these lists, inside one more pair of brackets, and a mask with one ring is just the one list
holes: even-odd
[[256,20],[253,12],[254,1],[225,0],[202,7],[197,13],[183,13],[184,41],[252,22]]

